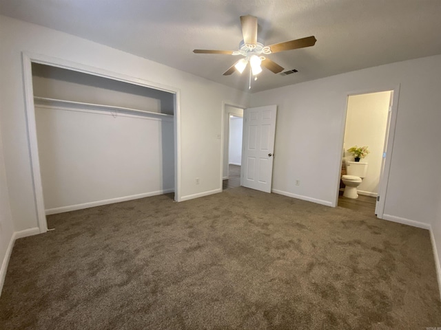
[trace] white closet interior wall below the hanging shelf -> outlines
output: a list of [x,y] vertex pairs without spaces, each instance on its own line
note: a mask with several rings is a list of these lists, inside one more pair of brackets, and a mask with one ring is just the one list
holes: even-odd
[[47,214],[174,190],[173,118],[36,106]]

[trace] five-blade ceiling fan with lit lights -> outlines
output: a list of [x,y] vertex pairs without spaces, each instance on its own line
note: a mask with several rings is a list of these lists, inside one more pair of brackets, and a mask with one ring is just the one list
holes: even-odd
[[[310,47],[316,44],[315,36],[307,36],[306,38],[285,41],[284,43],[275,43],[274,45],[264,46],[257,40],[257,17],[246,15],[240,17],[240,24],[242,25],[243,41],[240,42],[239,50],[194,50],[196,54],[227,54],[227,55],[242,55],[239,61],[234,63],[227,71],[223,73],[224,76],[233,74],[238,71],[240,74],[245,70],[248,63],[250,66],[250,82],[251,75],[255,76],[262,72],[263,65],[269,71],[278,74],[283,71],[283,67],[266,58],[264,55],[283,52],[285,50],[296,50],[298,48]],[[251,83],[250,83],[251,88]]]

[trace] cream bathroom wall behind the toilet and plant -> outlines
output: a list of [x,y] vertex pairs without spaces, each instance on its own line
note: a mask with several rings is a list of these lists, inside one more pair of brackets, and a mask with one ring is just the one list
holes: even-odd
[[[358,186],[361,194],[376,196],[378,193],[390,96],[390,91],[383,91],[348,98],[343,148],[347,151],[351,146],[368,146],[370,151],[360,160],[368,163],[367,175]],[[353,155],[346,154],[346,159],[353,162]]]

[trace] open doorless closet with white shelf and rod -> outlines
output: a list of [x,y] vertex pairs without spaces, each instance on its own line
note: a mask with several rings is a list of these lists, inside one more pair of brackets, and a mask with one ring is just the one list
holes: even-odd
[[40,232],[46,214],[173,192],[178,201],[177,91],[23,64]]

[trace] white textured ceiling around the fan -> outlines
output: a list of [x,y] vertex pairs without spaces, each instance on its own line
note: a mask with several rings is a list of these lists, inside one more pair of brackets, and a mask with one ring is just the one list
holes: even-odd
[[441,0],[0,0],[0,14],[243,90],[245,72],[222,75],[237,57],[192,50],[237,50],[245,14],[265,45],[316,36],[314,47],[269,55],[298,72],[264,69],[251,92],[441,54]]

